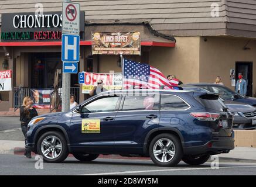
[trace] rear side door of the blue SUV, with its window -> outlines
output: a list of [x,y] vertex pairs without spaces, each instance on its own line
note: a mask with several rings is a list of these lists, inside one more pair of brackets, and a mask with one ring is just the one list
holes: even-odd
[[115,116],[117,122],[115,147],[120,153],[140,153],[149,130],[159,124],[159,95],[128,94],[123,96],[120,110]]

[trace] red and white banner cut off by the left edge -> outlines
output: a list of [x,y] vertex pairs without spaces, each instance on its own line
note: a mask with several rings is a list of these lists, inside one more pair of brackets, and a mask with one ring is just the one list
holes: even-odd
[[12,90],[12,70],[0,71],[0,91]]

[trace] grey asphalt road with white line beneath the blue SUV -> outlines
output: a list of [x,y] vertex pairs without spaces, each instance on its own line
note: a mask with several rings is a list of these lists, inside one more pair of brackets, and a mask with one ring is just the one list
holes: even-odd
[[157,167],[148,160],[121,160],[98,158],[82,163],[73,157],[60,164],[43,162],[43,169],[35,157],[0,155],[0,175],[256,175],[256,163],[222,162],[219,169],[211,169],[211,163],[190,166],[180,162],[177,167]]

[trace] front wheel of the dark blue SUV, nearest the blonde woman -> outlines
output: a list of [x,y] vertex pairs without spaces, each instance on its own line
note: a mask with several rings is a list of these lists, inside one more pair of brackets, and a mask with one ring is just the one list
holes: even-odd
[[69,155],[67,141],[59,131],[48,131],[37,141],[37,153],[46,162],[62,162]]

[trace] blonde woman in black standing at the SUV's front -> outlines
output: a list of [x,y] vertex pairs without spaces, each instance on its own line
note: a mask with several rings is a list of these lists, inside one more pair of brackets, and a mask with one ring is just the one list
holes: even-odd
[[[21,130],[22,133],[25,137],[25,145],[26,145],[26,133],[28,131],[28,124],[30,122],[30,120],[35,117],[38,116],[36,109],[32,107],[33,105],[33,101],[29,96],[26,96],[23,99],[23,104],[20,108],[20,121],[21,121]],[[27,158],[31,158],[31,152],[30,151],[26,151],[24,155]]]

